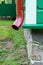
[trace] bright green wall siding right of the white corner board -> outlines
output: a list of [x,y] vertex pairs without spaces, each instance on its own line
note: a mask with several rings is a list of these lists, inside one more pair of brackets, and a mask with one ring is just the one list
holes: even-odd
[[37,24],[43,24],[43,0],[37,0]]

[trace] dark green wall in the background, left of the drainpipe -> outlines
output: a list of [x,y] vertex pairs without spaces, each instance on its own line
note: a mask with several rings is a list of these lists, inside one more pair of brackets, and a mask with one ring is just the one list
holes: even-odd
[[11,4],[5,2],[0,4],[0,16],[16,16],[15,0]]

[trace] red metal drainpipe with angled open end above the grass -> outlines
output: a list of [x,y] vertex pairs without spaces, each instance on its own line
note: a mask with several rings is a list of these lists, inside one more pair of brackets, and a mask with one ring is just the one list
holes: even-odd
[[15,30],[18,30],[23,23],[23,0],[16,0],[16,20],[14,21],[12,27]]

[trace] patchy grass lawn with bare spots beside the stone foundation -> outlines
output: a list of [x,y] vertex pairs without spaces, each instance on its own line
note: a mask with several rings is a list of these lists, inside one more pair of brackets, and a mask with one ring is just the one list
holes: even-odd
[[0,65],[20,65],[27,62],[23,30],[13,30],[12,23],[12,20],[0,20]]

